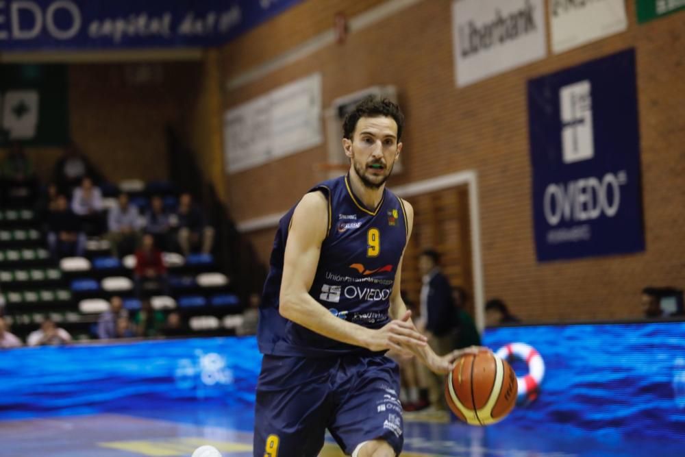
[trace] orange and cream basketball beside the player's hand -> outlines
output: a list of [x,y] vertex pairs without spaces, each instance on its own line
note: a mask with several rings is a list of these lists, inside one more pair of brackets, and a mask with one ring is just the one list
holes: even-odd
[[471,425],[504,419],[514,408],[518,391],[512,367],[486,349],[458,358],[445,382],[449,408]]

